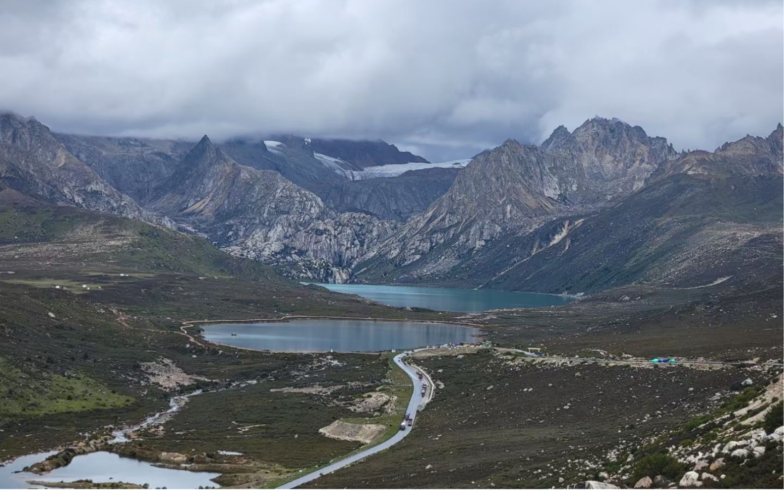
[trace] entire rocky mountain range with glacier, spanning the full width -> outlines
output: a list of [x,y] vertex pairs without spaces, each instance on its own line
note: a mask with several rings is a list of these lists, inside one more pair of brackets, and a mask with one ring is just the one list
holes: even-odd
[[713,153],[679,153],[594,117],[466,165],[385,142],[107,138],[0,116],[0,185],[178,227],[328,282],[576,294],[764,280],[782,248],[781,181],[780,124]]

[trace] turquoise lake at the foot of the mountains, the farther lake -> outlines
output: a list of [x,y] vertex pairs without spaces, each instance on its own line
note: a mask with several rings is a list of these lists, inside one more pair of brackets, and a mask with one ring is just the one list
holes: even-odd
[[567,304],[572,297],[517,291],[464,290],[453,287],[317,284],[336,293],[358,294],[390,306],[429,308],[441,312],[485,312],[495,308],[543,308]]

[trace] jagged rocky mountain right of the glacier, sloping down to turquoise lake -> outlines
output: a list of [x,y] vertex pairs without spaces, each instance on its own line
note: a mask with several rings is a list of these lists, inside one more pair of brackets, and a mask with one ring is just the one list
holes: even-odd
[[675,153],[617,120],[564,131],[542,148],[507,141],[475,158],[359,276],[577,293],[710,283],[750,272],[752,242],[766,243],[762,255],[781,248],[781,125],[714,153]]

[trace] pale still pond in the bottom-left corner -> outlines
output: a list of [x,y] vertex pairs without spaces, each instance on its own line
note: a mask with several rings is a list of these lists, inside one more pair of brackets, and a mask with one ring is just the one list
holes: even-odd
[[[123,458],[113,452],[93,452],[76,456],[67,467],[57,468],[47,474],[16,473],[32,463],[46,459],[54,452],[22,456],[5,467],[0,467],[0,488],[31,488],[25,483],[36,481],[75,481],[93,480],[95,482],[124,481],[150,485],[150,488],[198,488],[199,486],[219,486],[210,478],[219,473],[196,472],[187,470],[168,470],[156,468],[150,463],[137,459]],[[111,478],[111,479],[110,479]],[[40,488],[40,487],[39,487]]]

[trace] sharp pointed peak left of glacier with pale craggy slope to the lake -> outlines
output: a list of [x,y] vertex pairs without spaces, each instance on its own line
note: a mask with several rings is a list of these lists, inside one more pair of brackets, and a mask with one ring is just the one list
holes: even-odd
[[338,214],[278,172],[234,162],[206,136],[154,196],[151,208],[232,254],[308,279],[347,279],[358,258],[394,229],[366,214]]

